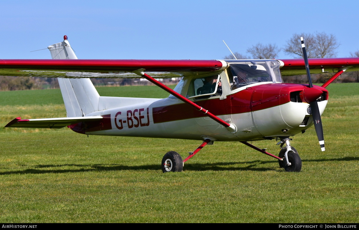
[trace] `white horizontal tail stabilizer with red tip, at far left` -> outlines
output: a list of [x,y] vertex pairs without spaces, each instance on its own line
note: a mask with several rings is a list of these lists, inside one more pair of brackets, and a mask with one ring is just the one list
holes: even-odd
[[10,128],[44,128],[60,129],[68,125],[80,123],[82,121],[98,121],[103,119],[102,116],[81,116],[73,118],[45,118],[45,119],[21,119],[15,118],[5,127]]

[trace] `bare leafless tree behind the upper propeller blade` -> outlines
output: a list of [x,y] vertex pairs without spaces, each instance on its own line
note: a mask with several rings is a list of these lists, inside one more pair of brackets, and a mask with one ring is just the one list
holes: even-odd
[[333,34],[326,34],[325,32],[293,34],[284,47],[284,51],[292,54],[295,58],[302,58],[300,37],[304,38],[308,58],[330,58],[337,54],[336,49],[339,47],[339,43]]

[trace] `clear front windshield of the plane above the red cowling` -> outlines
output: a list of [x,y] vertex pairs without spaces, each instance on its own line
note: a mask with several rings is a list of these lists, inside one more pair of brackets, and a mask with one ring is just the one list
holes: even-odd
[[248,60],[228,63],[231,90],[258,82],[282,82],[278,61]]

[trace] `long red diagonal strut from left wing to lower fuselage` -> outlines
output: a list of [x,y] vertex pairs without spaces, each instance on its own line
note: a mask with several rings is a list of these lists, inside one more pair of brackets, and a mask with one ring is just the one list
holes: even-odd
[[153,77],[147,75],[144,69],[139,69],[139,70],[135,70],[132,71],[134,73],[136,73],[139,76],[143,76],[144,78],[146,78],[147,80],[149,80],[150,82],[154,83],[155,85],[157,85],[158,87],[162,88],[163,90],[169,92],[170,94],[172,94],[173,96],[176,96],[178,99],[180,99],[181,101],[195,107],[197,110],[201,111],[203,114],[205,114],[206,116],[212,118],[213,120],[215,120],[216,122],[218,122],[219,124],[223,125],[228,131],[230,131],[231,133],[236,133],[237,132],[237,127],[234,124],[228,124],[227,122],[225,122],[224,120],[220,119],[218,116],[212,114],[211,112],[209,112],[208,110],[202,108],[201,106],[195,104],[193,101],[188,100],[186,97],[182,96],[181,94],[178,94],[176,91],[172,90],[171,88],[168,88],[167,86],[163,85],[161,82],[155,80]]

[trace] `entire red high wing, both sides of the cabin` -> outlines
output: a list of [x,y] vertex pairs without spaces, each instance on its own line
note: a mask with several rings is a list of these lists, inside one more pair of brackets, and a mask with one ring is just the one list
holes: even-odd
[[[278,59],[281,74],[306,74],[304,59]],[[311,73],[359,71],[359,58],[311,58]],[[62,78],[138,78],[144,69],[153,77],[199,75],[227,68],[223,60],[98,60],[98,59],[0,59],[1,76]]]

